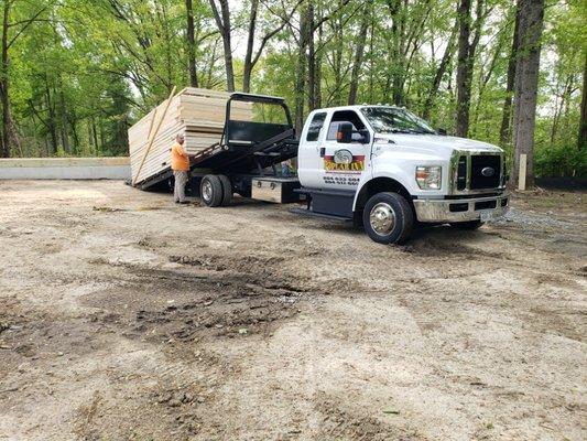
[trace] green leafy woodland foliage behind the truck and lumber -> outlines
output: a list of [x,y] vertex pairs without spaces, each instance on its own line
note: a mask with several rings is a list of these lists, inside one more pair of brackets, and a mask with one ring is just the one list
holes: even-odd
[[[251,2],[229,2],[237,87],[244,71]],[[20,147],[12,146],[14,155],[127,154],[130,125],[166,98],[173,86],[188,85],[183,0],[28,0],[11,4],[9,39],[13,44],[6,75],[21,140]],[[194,0],[193,4],[199,87],[224,89],[222,41],[209,2]],[[285,23],[267,42],[252,71],[251,92],[284,96],[293,111],[301,29],[309,4],[314,21],[320,23],[313,33],[318,72],[316,94],[311,97],[306,66],[303,115],[315,105],[348,101],[367,8],[368,32],[356,101],[406,106],[418,115],[430,115],[433,127],[454,132],[457,4],[453,0],[303,0],[293,14],[287,12],[293,2],[259,2],[254,51],[264,35]],[[475,56],[469,136],[499,143],[514,3],[486,0],[486,4],[488,15]],[[536,175],[587,174],[586,153],[576,148],[587,54],[586,4],[580,0],[550,2],[545,11]],[[446,71],[438,89],[433,90],[452,35]],[[512,150],[511,142],[502,147]]]

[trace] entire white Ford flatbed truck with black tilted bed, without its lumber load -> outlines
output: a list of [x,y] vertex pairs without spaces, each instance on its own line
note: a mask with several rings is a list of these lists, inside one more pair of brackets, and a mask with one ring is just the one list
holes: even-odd
[[[231,120],[232,100],[279,106],[287,123]],[[297,179],[279,176],[275,165],[294,157]],[[193,168],[207,206],[227,205],[233,193],[283,203],[302,195],[306,208],[292,212],[354,222],[381,244],[406,240],[416,223],[474,229],[509,203],[502,149],[448,137],[392,106],[314,110],[295,139],[282,98],[236,93],[221,142]],[[203,168],[210,172],[198,174]]]

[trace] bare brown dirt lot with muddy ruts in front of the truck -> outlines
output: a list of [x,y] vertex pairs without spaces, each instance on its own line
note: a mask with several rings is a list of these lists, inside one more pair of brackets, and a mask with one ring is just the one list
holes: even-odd
[[585,440],[587,194],[382,246],[0,182],[0,440]]

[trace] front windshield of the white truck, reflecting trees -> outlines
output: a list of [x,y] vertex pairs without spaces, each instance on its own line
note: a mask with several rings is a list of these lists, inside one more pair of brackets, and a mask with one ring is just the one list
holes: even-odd
[[361,109],[378,133],[436,133],[422,118],[395,107],[363,107]]

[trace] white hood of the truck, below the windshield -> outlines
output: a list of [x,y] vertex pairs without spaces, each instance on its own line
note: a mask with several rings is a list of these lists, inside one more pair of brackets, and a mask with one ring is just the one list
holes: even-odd
[[376,139],[388,139],[399,147],[413,148],[422,153],[443,157],[450,155],[454,150],[503,152],[499,147],[487,142],[443,135],[377,133]]

